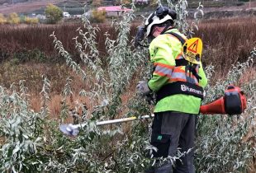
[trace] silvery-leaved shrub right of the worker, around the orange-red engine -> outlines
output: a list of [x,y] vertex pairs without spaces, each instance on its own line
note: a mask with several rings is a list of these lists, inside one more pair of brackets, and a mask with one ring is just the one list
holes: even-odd
[[[206,88],[206,98],[210,102],[223,95],[225,86],[238,85],[244,79],[244,73],[254,68],[256,48],[247,62],[236,63],[225,76],[224,81]],[[206,73],[210,78],[214,68],[208,66]],[[211,78],[210,78],[211,79]],[[255,113],[256,113],[256,77],[249,83],[242,83],[241,88],[247,96],[247,110],[243,115],[200,115],[197,124],[197,171],[200,172],[248,172],[255,157]]]

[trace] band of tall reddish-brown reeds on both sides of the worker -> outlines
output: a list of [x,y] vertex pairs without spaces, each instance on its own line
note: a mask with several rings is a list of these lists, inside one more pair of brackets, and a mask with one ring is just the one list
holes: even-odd
[[[244,62],[249,52],[256,45],[256,17],[225,18],[202,21],[196,35],[204,44],[203,62],[216,66],[216,78],[227,72],[230,64],[237,61]],[[135,36],[136,23],[131,27],[130,37]],[[46,62],[55,62],[60,59],[52,44],[50,34],[55,30],[58,36],[76,61],[79,61],[78,53],[74,48],[73,37],[77,35],[76,29],[80,24],[63,25],[38,25],[38,26],[0,26],[0,61],[12,59],[14,53],[39,49],[47,55]],[[104,33],[108,32],[114,39],[116,32],[110,24],[99,24],[101,31],[97,36],[97,47],[102,57],[106,53]],[[40,41],[38,41],[40,40]],[[60,61],[60,60],[59,60]],[[61,61],[60,61],[61,62]],[[63,62],[63,61],[62,61]],[[220,75],[217,73],[220,73]]]

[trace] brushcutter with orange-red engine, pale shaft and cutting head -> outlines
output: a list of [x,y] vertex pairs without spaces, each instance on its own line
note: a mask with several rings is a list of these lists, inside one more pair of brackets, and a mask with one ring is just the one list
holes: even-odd
[[[244,92],[238,86],[230,85],[227,87],[224,96],[221,96],[216,101],[211,102],[207,105],[201,105],[200,113],[202,115],[240,115],[246,109],[246,97]],[[97,122],[97,126],[105,124],[118,124],[128,121],[134,121],[139,119],[150,119],[154,115],[143,115],[139,117],[129,117],[124,119],[111,119],[106,121]],[[79,129],[83,128],[87,124],[61,124],[59,129],[69,135],[77,136]]]

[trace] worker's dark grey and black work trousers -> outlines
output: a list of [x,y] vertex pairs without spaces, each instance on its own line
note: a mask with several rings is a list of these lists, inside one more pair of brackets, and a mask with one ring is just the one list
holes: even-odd
[[175,161],[173,166],[171,161],[163,166],[155,167],[154,173],[194,173],[193,165],[195,120],[196,115],[166,111],[154,114],[152,125],[151,145],[158,148],[154,152],[154,157],[174,157],[178,148],[180,152],[188,152],[181,161]]

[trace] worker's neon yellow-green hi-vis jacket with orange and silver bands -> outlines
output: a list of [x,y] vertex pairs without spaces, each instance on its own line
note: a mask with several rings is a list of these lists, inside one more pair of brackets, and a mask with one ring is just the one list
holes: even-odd
[[[177,29],[171,29],[166,31],[175,32],[178,35],[182,35]],[[185,81],[181,74],[185,75],[185,67],[175,67],[175,58],[180,56],[182,51],[182,44],[173,35],[159,35],[149,45],[150,61],[154,64],[154,72],[152,78],[149,80],[149,88],[156,92],[159,89],[168,84],[169,82]],[[182,73],[183,72],[183,73]],[[203,68],[197,68],[198,75],[201,77],[199,82],[196,77],[192,77],[196,80],[196,84],[205,87],[207,84],[206,74]],[[185,81],[186,82],[186,81]],[[176,94],[173,96],[167,96],[164,99],[158,101],[155,105],[154,112],[164,112],[168,110],[198,114],[201,105],[201,99],[195,96]]]

